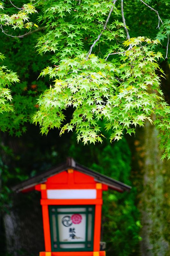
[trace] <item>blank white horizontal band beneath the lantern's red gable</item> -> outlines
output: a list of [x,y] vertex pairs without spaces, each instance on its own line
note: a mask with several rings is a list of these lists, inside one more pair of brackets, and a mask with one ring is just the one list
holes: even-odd
[[48,199],[96,199],[96,189],[47,189]]

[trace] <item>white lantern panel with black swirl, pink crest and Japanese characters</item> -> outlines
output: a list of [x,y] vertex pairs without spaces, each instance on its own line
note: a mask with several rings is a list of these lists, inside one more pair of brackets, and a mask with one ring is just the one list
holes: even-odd
[[86,214],[58,214],[60,242],[85,242]]

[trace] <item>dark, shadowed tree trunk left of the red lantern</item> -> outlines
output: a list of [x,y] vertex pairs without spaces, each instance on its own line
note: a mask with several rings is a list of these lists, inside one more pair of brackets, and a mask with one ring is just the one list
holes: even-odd
[[10,214],[4,214],[6,252],[38,256],[44,251],[40,195],[17,195]]

